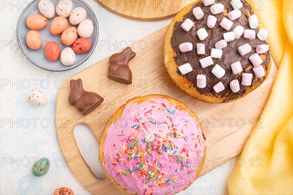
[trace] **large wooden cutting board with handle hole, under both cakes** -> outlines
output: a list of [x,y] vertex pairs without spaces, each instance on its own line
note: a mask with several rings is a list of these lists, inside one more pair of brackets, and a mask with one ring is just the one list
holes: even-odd
[[[253,127],[261,128],[262,121],[257,121],[270,95],[272,76],[247,97],[231,103],[208,104],[190,98],[167,75],[162,51],[166,30],[167,27],[131,45],[137,54],[129,63],[134,79],[132,85],[107,78],[109,63],[106,58],[68,78],[61,86],[56,105],[60,147],[74,175],[92,194],[122,193],[108,179],[100,180],[94,176],[78,150],[73,129],[79,123],[87,124],[99,142],[107,120],[130,98],[163,94],[184,102],[198,115],[208,144],[208,159],[200,176],[240,154]],[[102,105],[88,116],[83,116],[68,103],[69,81],[78,78],[82,78],[85,90],[105,98]]]

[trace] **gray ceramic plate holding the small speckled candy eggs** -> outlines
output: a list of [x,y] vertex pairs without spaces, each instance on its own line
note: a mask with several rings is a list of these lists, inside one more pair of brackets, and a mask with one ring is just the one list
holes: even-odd
[[[65,70],[70,70],[81,65],[93,53],[98,42],[99,26],[98,26],[98,21],[94,12],[83,0],[72,0],[73,8],[83,7],[86,10],[86,13],[87,13],[86,18],[92,20],[94,23],[94,32],[93,32],[93,35],[90,38],[88,38],[91,42],[91,50],[85,54],[76,54],[75,63],[71,66],[64,66],[61,63],[60,58],[54,62],[49,61],[45,57],[45,53],[43,50],[45,44],[48,41],[58,42],[61,47],[61,51],[63,50],[63,48],[67,47],[61,42],[61,35],[52,35],[50,32],[51,22],[54,18],[58,16],[57,13],[55,13],[55,17],[53,19],[48,20],[48,23],[45,28],[38,31],[41,34],[42,40],[43,40],[42,48],[40,48],[39,50],[32,50],[32,49],[29,49],[26,45],[26,42],[25,42],[26,34],[28,33],[28,31],[30,31],[30,29],[26,26],[26,19],[30,15],[41,14],[38,9],[39,1],[40,0],[33,0],[30,4],[26,6],[26,8],[22,11],[18,24],[17,24],[16,35],[17,35],[18,44],[21,48],[23,55],[36,66],[45,70],[49,70],[49,71],[65,71]],[[56,10],[56,5],[58,4],[59,0],[51,0],[51,1],[54,4],[55,10]],[[72,26],[69,23],[69,18],[67,18],[67,20],[68,20],[68,27]],[[78,26],[76,25],[75,27],[77,28]]]

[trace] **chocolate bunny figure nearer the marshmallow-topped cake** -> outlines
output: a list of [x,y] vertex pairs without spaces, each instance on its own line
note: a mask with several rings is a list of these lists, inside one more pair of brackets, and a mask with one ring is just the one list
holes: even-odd
[[115,80],[117,82],[131,84],[132,83],[132,73],[128,66],[130,59],[135,57],[135,53],[130,47],[127,47],[119,54],[114,54],[110,57],[109,62],[109,74],[108,78]]

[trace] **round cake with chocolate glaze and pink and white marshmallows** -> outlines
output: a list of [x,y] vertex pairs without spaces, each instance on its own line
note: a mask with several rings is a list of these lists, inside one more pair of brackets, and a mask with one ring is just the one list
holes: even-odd
[[243,98],[270,72],[267,35],[246,0],[195,1],[167,29],[167,73],[181,90],[201,101]]

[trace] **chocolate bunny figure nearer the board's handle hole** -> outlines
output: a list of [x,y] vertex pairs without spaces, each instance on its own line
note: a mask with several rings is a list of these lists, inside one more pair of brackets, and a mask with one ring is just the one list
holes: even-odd
[[80,78],[70,80],[70,90],[68,97],[69,104],[75,106],[84,115],[91,113],[104,101],[104,98],[98,94],[85,91],[83,81]]

